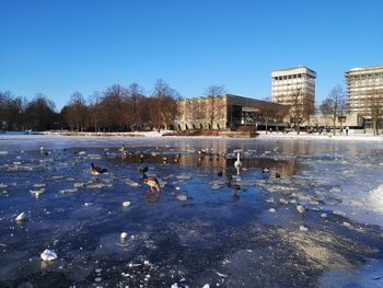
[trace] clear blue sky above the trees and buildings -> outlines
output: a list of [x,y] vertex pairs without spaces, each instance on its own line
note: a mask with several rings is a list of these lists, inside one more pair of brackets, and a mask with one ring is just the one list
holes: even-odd
[[383,1],[1,0],[0,91],[57,107],[114,83],[182,96],[211,84],[265,99],[272,70],[317,72],[316,102],[353,67],[383,65]]

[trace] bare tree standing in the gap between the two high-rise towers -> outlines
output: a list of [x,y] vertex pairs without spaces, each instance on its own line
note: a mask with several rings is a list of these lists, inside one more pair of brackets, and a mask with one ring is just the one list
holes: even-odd
[[325,117],[333,120],[333,135],[335,135],[336,120],[346,112],[345,93],[340,85],[332,89],[328,96],[321,104],[320,110]]

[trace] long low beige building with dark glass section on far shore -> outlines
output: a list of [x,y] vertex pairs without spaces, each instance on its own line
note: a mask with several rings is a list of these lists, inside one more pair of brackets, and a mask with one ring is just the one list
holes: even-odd
[[175,126],[178,130],[227,129],[236,126],[285,127],[289,106],[225,94],[178,101]]

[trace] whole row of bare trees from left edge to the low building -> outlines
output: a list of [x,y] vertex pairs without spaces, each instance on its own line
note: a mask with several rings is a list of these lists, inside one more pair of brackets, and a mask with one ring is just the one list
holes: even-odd
[[93,93],[88,101],[80,92],[74,92],[57,113],[55,103],[43,94],[27,102],[10,92],[0,92],[0,129],[126,131],[167,128],[177,113],[178,99],[178,92],[163,80],[154,83],[150,95],[144,95],[137,83],[128,88],[115,84],[103,93]]

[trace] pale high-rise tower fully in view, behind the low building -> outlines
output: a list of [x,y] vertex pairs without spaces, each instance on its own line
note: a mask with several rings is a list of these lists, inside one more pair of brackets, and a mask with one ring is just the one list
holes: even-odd
[[291,105],[293,95],[300,93],[302,103],[307,104],[309,113],[315,107],[315,79],[316,72],[305,66],[275,70],[271,72],[271,101]]

